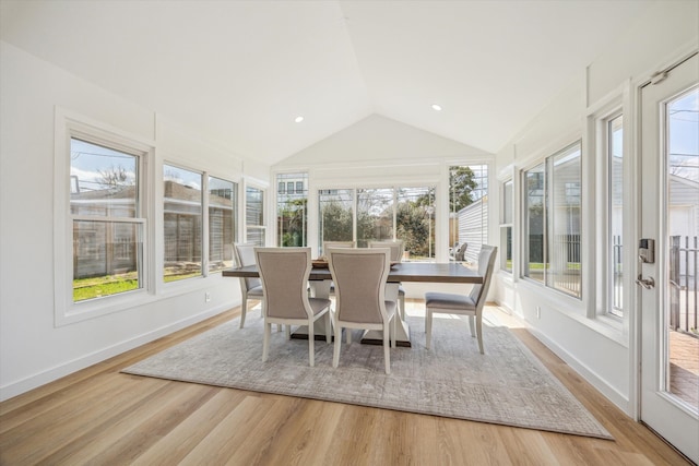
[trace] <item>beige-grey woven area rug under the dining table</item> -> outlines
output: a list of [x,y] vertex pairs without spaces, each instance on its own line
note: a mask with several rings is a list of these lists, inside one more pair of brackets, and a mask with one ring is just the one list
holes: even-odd
[[[449,316],[447,316],[449,318]],[[463,319],[463,320],[462,320]],[[383,372],[381,346],[343,338],[340,367],[333,345],[316,342],[316,367],[308,342],[272,332],[270,358],[262,362],[262,319],[238,328],[234,320],[144,359],[122,372],[612,439],[507,327],[484,322],[485,355],[465,318],[435,319],[433,349],[425,349],[424,319],[408,316],[412,348],[391,350]]]

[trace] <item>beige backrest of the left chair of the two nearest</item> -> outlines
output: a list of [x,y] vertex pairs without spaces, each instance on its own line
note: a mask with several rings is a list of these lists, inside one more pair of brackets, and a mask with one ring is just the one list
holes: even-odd
[[263,291],[265,316],[308,319],[310,248],[254,248]]

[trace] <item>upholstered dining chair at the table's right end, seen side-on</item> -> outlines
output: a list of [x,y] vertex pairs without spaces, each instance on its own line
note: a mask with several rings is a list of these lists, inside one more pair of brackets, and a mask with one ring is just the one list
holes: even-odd
[[[427,333],[426,347],[429,349],[433,335],[433,314],[459,314],[469,315],[471,336],[478,337],[478,349],[483,350],[483,308],[490,287],[490,278],[495,268],[497,248],[483,244],[478,253],[478,275],[483,276],[482,285],[474,285],[469,295],[450,292],[425,294],[425,332]],[[475,321],[475,322],[474,322]],[[475,324],[475,332],[474,332]]]

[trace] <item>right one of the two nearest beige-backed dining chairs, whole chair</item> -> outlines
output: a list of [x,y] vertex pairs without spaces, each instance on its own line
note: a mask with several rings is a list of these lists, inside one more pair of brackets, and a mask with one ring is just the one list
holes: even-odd
[[391,373],[389,339],[395,347],[398,306],[386,300],[386,283],[391,268],[391,251],[384,249],[329,248],[328,264],[335,283],[335,312],[333,323],[335,346],[332,366],[340,363],[342,328],[347,344],[352,343],[352,328],[379,330],[383,333],[386,373]]

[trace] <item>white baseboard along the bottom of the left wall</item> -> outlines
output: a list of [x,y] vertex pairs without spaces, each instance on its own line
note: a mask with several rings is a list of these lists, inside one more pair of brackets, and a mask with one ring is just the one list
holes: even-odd
[[226,303],[226,304],[218,306],[216,308],[208,309],[204,312],[190,315],[177,322],[171,322],[159,328],[156,328],[151,332],[144,333],[142,335],[135,336],[133,338],[120,342],[107,348],[103,348],[97,351],[91,353],[81,358],[73,359],[72,361],[66,362],[63,365],[54,367],[46,371],[22,379],[17,382],[13,382],[8,385],[0,386],[0,402],[4,402],[5,399],[10,399],[14,396],[26,393],[31,390],[45,385],[49,382],[54,382],[62,377],[66,377],[73,372],[78,372],[79,370],[88,368],[90,366],[96,365],[106,359],[118,356],[122,353],[137,348],[146,343],[153,342],[154,339],[169,335],[170,333],[177,332],[178,330],[185,328],[189,325],[193,325],[205,319],[209,319],[224,311],[227,311],[230,308],[232,308],[230,303]]

